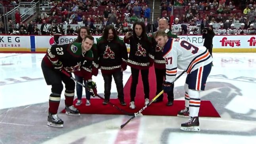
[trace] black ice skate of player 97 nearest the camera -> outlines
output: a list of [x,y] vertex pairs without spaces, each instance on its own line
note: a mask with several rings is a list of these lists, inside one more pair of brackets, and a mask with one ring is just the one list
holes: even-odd
[[199,118],[191,117],[189,121],[181,124],[181,130],[183,131],[200,131]]

